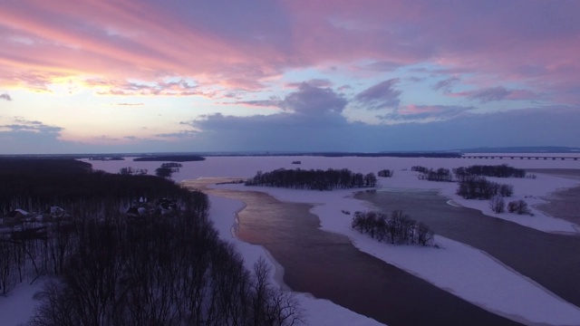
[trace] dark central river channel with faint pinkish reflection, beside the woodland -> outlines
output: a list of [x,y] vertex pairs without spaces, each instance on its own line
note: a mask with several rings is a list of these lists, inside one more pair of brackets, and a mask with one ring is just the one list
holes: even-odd
[[321,231],[304,204],[257,192],[205,189],[244,201],[238,235],[263,245],[285,269],[284,281],[389,325],[517,325],[356,249],[343,235]]

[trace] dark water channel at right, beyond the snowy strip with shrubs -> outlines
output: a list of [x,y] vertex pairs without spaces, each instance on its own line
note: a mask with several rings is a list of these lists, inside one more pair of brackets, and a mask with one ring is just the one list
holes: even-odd
[[580,236],[546,234],[475,209],[449,206],[436,191],[384,189],[355,197],[384,212],[402,209],[435,234],[481,249],[580,306]]

